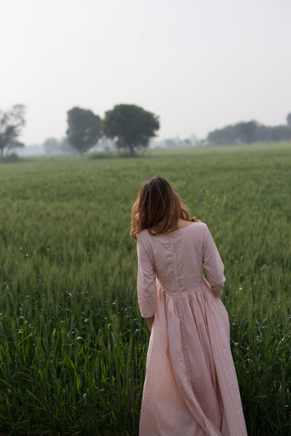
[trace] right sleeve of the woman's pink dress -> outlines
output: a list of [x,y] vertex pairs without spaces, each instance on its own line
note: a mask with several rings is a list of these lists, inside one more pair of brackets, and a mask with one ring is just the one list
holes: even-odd
[[222,288],[225,283],[225,267],[207,226],[204,228],[204,245],[202,248],[202,256],[203,266],[207,273],[207,280],[214,293],[218,296],[221,296]]

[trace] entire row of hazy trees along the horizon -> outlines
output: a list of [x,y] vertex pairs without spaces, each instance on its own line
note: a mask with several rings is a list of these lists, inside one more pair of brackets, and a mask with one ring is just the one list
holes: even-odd
[[[4,150],[23,147],[17,138],[25,125],[25,106],[18,104],[10,110],[0,110],[0,158]],[[120,104],[105,113],[104,119],[95,115],[92,110],[72,108],[67,112],[68,129],[66,137],[58,141],[48,138],[43,143],[47,153],[70,153],[76,150],[83,154],[97,145],[101,139],[111,140],[120,150],[135,150],[147,147],[150,138],[156,136],[159,129],[159,117],[136,105]],[[208,133],[202,143],[207,145],[227,145],[235,143],[278,142],[291,140],[291,112],[286,117],[286,124],[279,126],[264,126],[252,120],[225,126],[223,129]],[[196,139],[195,141],[196,142]],[[190,146],[190,139],[184,140],[179,146]],[[181,145],[182,144],[182,145]],[[166,147],[176,147],[177,140],[164,140]]]

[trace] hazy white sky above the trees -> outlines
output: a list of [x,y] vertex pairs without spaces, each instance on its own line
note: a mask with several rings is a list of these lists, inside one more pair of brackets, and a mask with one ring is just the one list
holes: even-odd
[[27,144],[62,138],[73,106],[134,103],[160,138],[291,112],[290,0],[0,0],[0,41],[0,108],[27,106]]

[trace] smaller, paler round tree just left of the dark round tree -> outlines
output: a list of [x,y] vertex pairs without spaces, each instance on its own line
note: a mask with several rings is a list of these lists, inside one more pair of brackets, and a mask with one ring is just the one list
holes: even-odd
[[67,115],[66,137],[71,146],[83,154],[99,140],[101,119],[92,110],[78,107],[69,110]]

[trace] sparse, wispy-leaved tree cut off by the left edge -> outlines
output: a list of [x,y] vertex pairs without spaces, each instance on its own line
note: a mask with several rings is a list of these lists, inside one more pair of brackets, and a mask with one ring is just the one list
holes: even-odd
[[25,125],[24,120],[25,106],[14,105],[7,112],[0,110],[0,157],[3,157],[5,149],[23,147],[24,145],[17,141],[21,129]]

